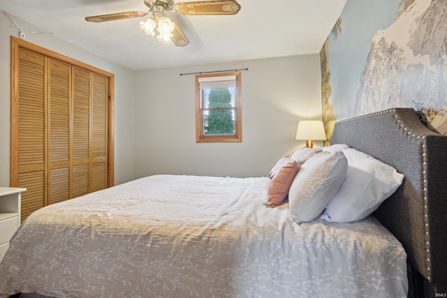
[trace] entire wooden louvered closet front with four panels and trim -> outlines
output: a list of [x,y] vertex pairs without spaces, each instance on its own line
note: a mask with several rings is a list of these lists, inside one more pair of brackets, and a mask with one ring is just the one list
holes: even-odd
[[15,39],[10,184],[27,188],[24,221],[48,204],[113,185],[113,80],[110,73],[36,46],[36,52],[16,47],[24,41]]

